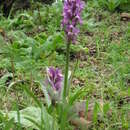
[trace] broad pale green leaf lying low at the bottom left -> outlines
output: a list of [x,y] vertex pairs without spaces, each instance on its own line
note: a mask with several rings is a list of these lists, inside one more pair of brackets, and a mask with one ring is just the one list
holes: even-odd
[[[42,112],[41,112],[42,111]],[[48,114],[45,107],[43,106],[42,109],[39,107],[27,107],[23,110],[20,110],[20,123],[22,127],[25,128],[33,128],[37,130],[41,130],[41,116],[43,118],[44,124],[44,130],[58,130],[58,125],[56,121]],[[9,119],[14,119],[16,123],[18,123],[18,116],[17,111],[10,111],[7,114],[2,112],[5,116],[8,116]],[[55,122],[55,123],[54,123]]]

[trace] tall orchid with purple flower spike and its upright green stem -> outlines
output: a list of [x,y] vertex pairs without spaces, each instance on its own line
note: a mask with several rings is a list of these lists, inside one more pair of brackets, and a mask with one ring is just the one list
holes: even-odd
[[69,50],[71,43],[75,44],[79,29],[78,24],[82,23],[81,12],[84,8],[84,2],[81,0],[65,0],[63,9],[62,27],[66,34],[66,67],[64,79],[63,99],[66,99],[68,89],[68,71],[69,71]]

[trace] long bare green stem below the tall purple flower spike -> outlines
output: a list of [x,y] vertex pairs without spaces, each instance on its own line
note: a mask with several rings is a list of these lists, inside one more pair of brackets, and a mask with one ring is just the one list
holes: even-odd
[[70,44],[67,43],[66,47],[66,65],[65,65],[65,78],[64,78],[64,91],[63,91],[63,101],[65,101],[67,96],[67,89],[68,89],[68,71],[69,71],[69,51],[70,51]]

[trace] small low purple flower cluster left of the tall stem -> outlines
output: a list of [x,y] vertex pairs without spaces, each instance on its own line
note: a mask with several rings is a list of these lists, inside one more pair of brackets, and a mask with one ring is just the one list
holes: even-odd
[[60,91],[62,87],[63,75],[61,70],[58,68],[50,67],[47,68],[47,84],[55,91]]

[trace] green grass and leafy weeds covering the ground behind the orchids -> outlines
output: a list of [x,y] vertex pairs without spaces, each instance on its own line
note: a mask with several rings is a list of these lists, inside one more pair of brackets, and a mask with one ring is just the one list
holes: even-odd
[[[44,79],[46,66],[58,66],[64,72],[65,42],[60,28],[61,11],[62,4],[59,3],[41,6],[40,16],[37,10],[16,12],[14,18],[8,19],[0,16],[0,110],[16,110],[15,116],[18,116],[20,110],[36,106],[36,99],[45,103],[43,92],[34,81]],[[77,44],[71,46],[70,70],[76,68],[76,71],[70,97],[83,89],[84,92],[76,97],[76,101],[103,100],[103,108],[100,108],[101,104],[95,104],[90,130],[130,128],[129,32],[129,23],[120,20],[120,13],[110,13],[91,2],[86,5],[80,36]],[[18,80],[22,80],[22,84],[11,86],[12,82]],[[36,97],[31,95],[30,98],[28,91],[23,89],[24,85]],[[55,108],[46,109],[47,112],[43,109],[43,113],[46,113],[48,120],[55,120],[54,127],[57,127],[60,112]],[[105,114],[107,109],[110,114]],[[100,118],[97,113],[100,113]],[[45,117],[42,118],[45,124]],[[35,127],[39,126],[34,119],[29,121]],[[0,129],[6,130],[10,124],[10,128],[20,130],[19,121],[16,127],[12,122],[0,114]],[[23,129],[29,128],[24,126]],[[44,129],[52,128],[46,124]],[[74,128],[68,124],[65,129]]]

